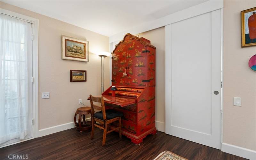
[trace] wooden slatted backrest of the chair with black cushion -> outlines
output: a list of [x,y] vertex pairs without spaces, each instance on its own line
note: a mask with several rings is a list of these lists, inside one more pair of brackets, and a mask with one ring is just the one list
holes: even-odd
[[[101,110],[102,111],[102,116],[103,116],[103,120],[107,119],[106,116],[106,111],[105,111],[105,105],[104,105],[104,100],[103,97],[94,97],[90,94],[90,102],[91,102],[91,109],[92,109],[92,116],[94,116],[94,109],[97,110]],[[93,104],[93,102],[98,102],[101,104],[101,106],[97,106],[95,104]]]

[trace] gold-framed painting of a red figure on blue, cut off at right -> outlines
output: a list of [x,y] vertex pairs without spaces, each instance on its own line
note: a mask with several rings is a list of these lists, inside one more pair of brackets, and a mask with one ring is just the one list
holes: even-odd
[[241,11],[242,47],[256,45],[256,7]]

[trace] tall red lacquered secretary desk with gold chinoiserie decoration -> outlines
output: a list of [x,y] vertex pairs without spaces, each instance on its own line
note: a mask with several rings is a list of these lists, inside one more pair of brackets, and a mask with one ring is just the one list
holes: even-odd
[[124,113],[122,134],[140,144],[155,134],[156,47],[145,38],[126,34],[112,54],[112,96],[110,86],[102,93],[106,108]]

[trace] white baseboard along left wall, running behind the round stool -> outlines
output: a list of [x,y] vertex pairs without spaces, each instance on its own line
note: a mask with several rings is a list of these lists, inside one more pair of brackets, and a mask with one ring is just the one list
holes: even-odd
[[[91,117],[89,118],[85,118],[85,120],[91,119]],[[52,133],[56,133],[56,132],[60,132],[60,131],[64,131],[64,130],[68,130],[70,128],[74,128],[75,127],[75,123],[74,122],[69,122],[66,124],[60,124],[60,125],[56,125],[56,126],[52,126],[49,128],[44,128],[38,131],[38,134],[36,135],[36,137],[42,137],[42,136],[46,136]]]

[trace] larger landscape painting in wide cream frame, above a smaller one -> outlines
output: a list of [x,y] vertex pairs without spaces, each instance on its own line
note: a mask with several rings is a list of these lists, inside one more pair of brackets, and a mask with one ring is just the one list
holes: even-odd
[[88,42],[62,35],[61,59],[88,62]]

